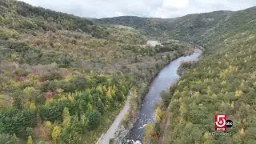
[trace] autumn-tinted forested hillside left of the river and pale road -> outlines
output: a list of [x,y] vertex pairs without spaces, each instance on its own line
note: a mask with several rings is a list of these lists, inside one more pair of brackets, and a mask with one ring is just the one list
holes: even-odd
[[131,27],[0,0],[0,142],[96,142],[127,90],[142,95],[162,66],[193,51],[146,40]]

